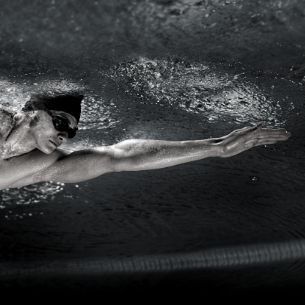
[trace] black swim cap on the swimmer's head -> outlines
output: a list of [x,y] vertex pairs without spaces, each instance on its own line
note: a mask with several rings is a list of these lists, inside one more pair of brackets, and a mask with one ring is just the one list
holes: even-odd
[[22,108],[23,111],[31,111],[36,109],[45,110],[58,110],[64,111],[73,115],[77,123],[79,122],[80,112],[81,112],[81,101],[84,96],[82,95],[60,95],[55,97],[48,96],[33,96],[29,101],[27,101]]

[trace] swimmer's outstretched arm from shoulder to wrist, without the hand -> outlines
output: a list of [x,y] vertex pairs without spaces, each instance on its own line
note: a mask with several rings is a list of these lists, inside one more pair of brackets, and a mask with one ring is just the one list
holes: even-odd
[[40,181],[75,183],[109,172],[169,167],[217,156],[216,144],[215,139],[176,142],[131,139],[112,146],[83,149],[73,153],[57,149],[60,157],[37,172],[31,178],[30,184]]

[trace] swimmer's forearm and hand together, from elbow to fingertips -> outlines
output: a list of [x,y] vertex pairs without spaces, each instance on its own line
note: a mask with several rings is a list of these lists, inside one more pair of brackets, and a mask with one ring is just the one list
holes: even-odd
[[114,167],[122,170],[148,170],[169,167],[207,157],[227,158],[258,145],[285,141],[285,129],[262,128],[261,123],[233,131],[227,136],[196,141],[127,140],[113,146]]

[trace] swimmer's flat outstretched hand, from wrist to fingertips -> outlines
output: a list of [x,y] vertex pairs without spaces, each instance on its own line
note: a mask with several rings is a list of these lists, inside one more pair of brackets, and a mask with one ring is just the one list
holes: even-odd
[[261,123],[253,127],[237,129],[218,139],[221,140],[220,157],[232,157],[254,146],[275,144],[278,141],[286,141],[289,137],[291,134],[286,129],[262,128]]

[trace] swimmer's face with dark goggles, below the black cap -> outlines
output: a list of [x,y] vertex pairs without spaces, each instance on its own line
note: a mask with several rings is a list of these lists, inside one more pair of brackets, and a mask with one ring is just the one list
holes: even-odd
[[35,110],[29,125],[36,147],[45,154],[51,154],[58,146],[67,142],[72,130],[77,130],[77,120],[71,114],[57,110],[49,112]]

